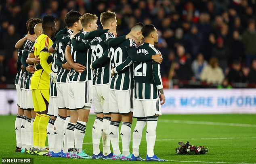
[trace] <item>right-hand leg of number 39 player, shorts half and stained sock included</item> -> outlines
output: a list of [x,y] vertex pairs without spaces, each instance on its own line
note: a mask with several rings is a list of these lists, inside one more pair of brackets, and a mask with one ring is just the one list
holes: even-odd
[[99,86],[101,93],[101,104],[103,109],[103,125],[102,125],[102,143],[103,143],[103,156],[111,156],[110,138],[109,138],[109,125],[111,121],[111,114],[109,114],[109,85]]

